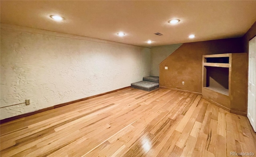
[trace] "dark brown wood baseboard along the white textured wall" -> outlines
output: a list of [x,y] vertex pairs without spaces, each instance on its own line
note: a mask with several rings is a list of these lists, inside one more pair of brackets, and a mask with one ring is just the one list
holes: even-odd
[[74,104],[76,102],[80,102],[80,101],[88,100],[88,99],[91,99],[91,98],[95,98],[97,96],[102,96],[102,95],[109,94],[109,93],[112,93],[112,92],[117,92],[118,90],[122,90],[122,89],[125,89],[125,88],[130,88],[130,86],[120,88],[120,89],[116,89],[116,90],[112,90],[112,91],[109,91],[109,92],[104,92],[104,93],[97,94],[97,95],[94,95],[94,96],[89,96],[89,97],[86,97],[86,98],[70,101],[70,102],[65,102],[65,103],[54,105],[54,106],[51,106],[51,107],[48,107],[48,108],[42,108],[40,110],[28,112],[28,113],[25,113],[25,114],[20,114],[18,116],[13,116],[13,117],[10,117],[10,118],[6,118],[6,119],[3,119],[3,120],[0,120],[0,124],[10,122],[12,120],[17,120],[17,119],[20,119],[20,118],[24,118],[24,117],[27,117],[27,116],[31,116],[33,114],[38,114],[38,113],[41,113],[41,112],[44,112],[44,111],[52,110],[54,108],[59,108],[59,107],[66,106],[66,105],[69,105],[69,104]]

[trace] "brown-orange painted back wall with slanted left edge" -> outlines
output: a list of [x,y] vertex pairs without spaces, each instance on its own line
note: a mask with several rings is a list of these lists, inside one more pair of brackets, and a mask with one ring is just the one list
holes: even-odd
[[242,38],[184,43],[160,63],[160,86],[202,93],[202,55],[242,52]]

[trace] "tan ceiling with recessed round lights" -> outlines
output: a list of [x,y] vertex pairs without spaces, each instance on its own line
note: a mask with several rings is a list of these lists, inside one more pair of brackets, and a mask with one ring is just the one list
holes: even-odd
[[[1,23],[143,47],[241,37],[256,1],[4,1]],[[60,15],[62,22],[50,15]],[[171,19],[181,21],[172,25]],[[123,31],[125,36],[116,33]],[[162,33],[162,36],[154,33]],[[188,35],[195,34],[194,39]],[[154,41],[151,44],[147,40]]]

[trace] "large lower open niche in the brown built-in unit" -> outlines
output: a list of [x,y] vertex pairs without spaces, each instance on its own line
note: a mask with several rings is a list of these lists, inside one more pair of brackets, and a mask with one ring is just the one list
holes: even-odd
[[228,95],[229,69],[224,67],[206,67],[206,88]]

